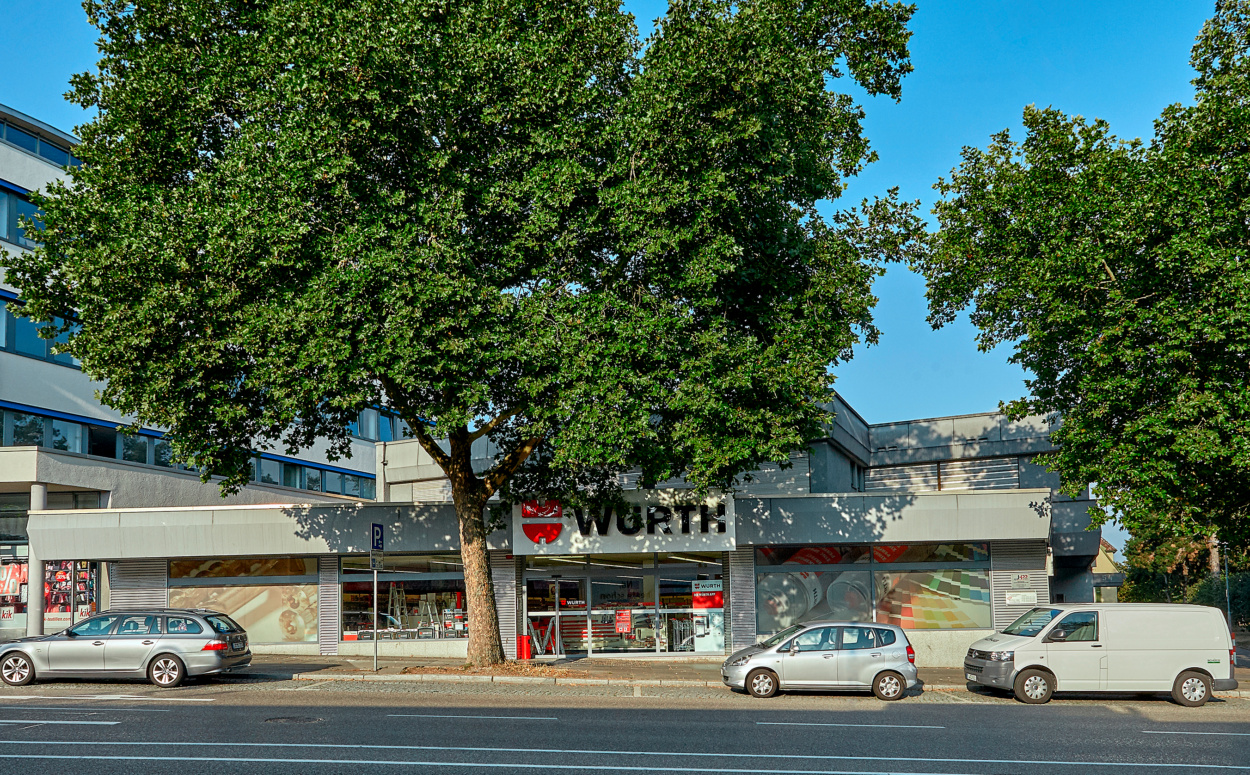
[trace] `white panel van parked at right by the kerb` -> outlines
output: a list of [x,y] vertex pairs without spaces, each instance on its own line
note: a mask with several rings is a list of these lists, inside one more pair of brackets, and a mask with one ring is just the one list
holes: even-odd
[[972,644],[964,676],[1041,704],[1055,691],[1170,691],[1181,705],[1238,688],[1224,614],[1201,605],[1035,608]]

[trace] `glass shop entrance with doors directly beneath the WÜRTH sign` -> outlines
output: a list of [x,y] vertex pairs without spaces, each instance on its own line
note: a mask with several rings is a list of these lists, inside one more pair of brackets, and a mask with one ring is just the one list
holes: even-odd
[[530,558],[525,629],[535,656],[720,654],[719,552]]

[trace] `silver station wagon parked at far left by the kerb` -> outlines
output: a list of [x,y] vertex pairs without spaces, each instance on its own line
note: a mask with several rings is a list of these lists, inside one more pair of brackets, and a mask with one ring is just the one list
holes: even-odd
[[248,632],[202,609],[104,611],[54,635],[0,644],[0,679],[144,678],[162,688],[251,662]]

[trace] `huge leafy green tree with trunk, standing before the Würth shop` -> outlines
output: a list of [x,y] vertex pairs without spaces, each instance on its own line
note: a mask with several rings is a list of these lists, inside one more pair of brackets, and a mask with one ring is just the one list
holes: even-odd
[[[910,249],[850,75],[899,96],[910,6],[89,0],[84,166],[10,276],[102,399],[226,486],[385,406],[446,471],[470,661],[502,659],[484,508],[629,468],[731,484],[820,432]],[[472,442],[496,450],[475,469]]]

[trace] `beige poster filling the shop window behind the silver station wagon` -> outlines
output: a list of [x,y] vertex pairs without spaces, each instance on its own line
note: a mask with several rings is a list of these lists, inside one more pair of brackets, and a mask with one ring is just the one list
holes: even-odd
[[316,584],[172,588],[169,605],[229,614],[254,644],[316,642]]

